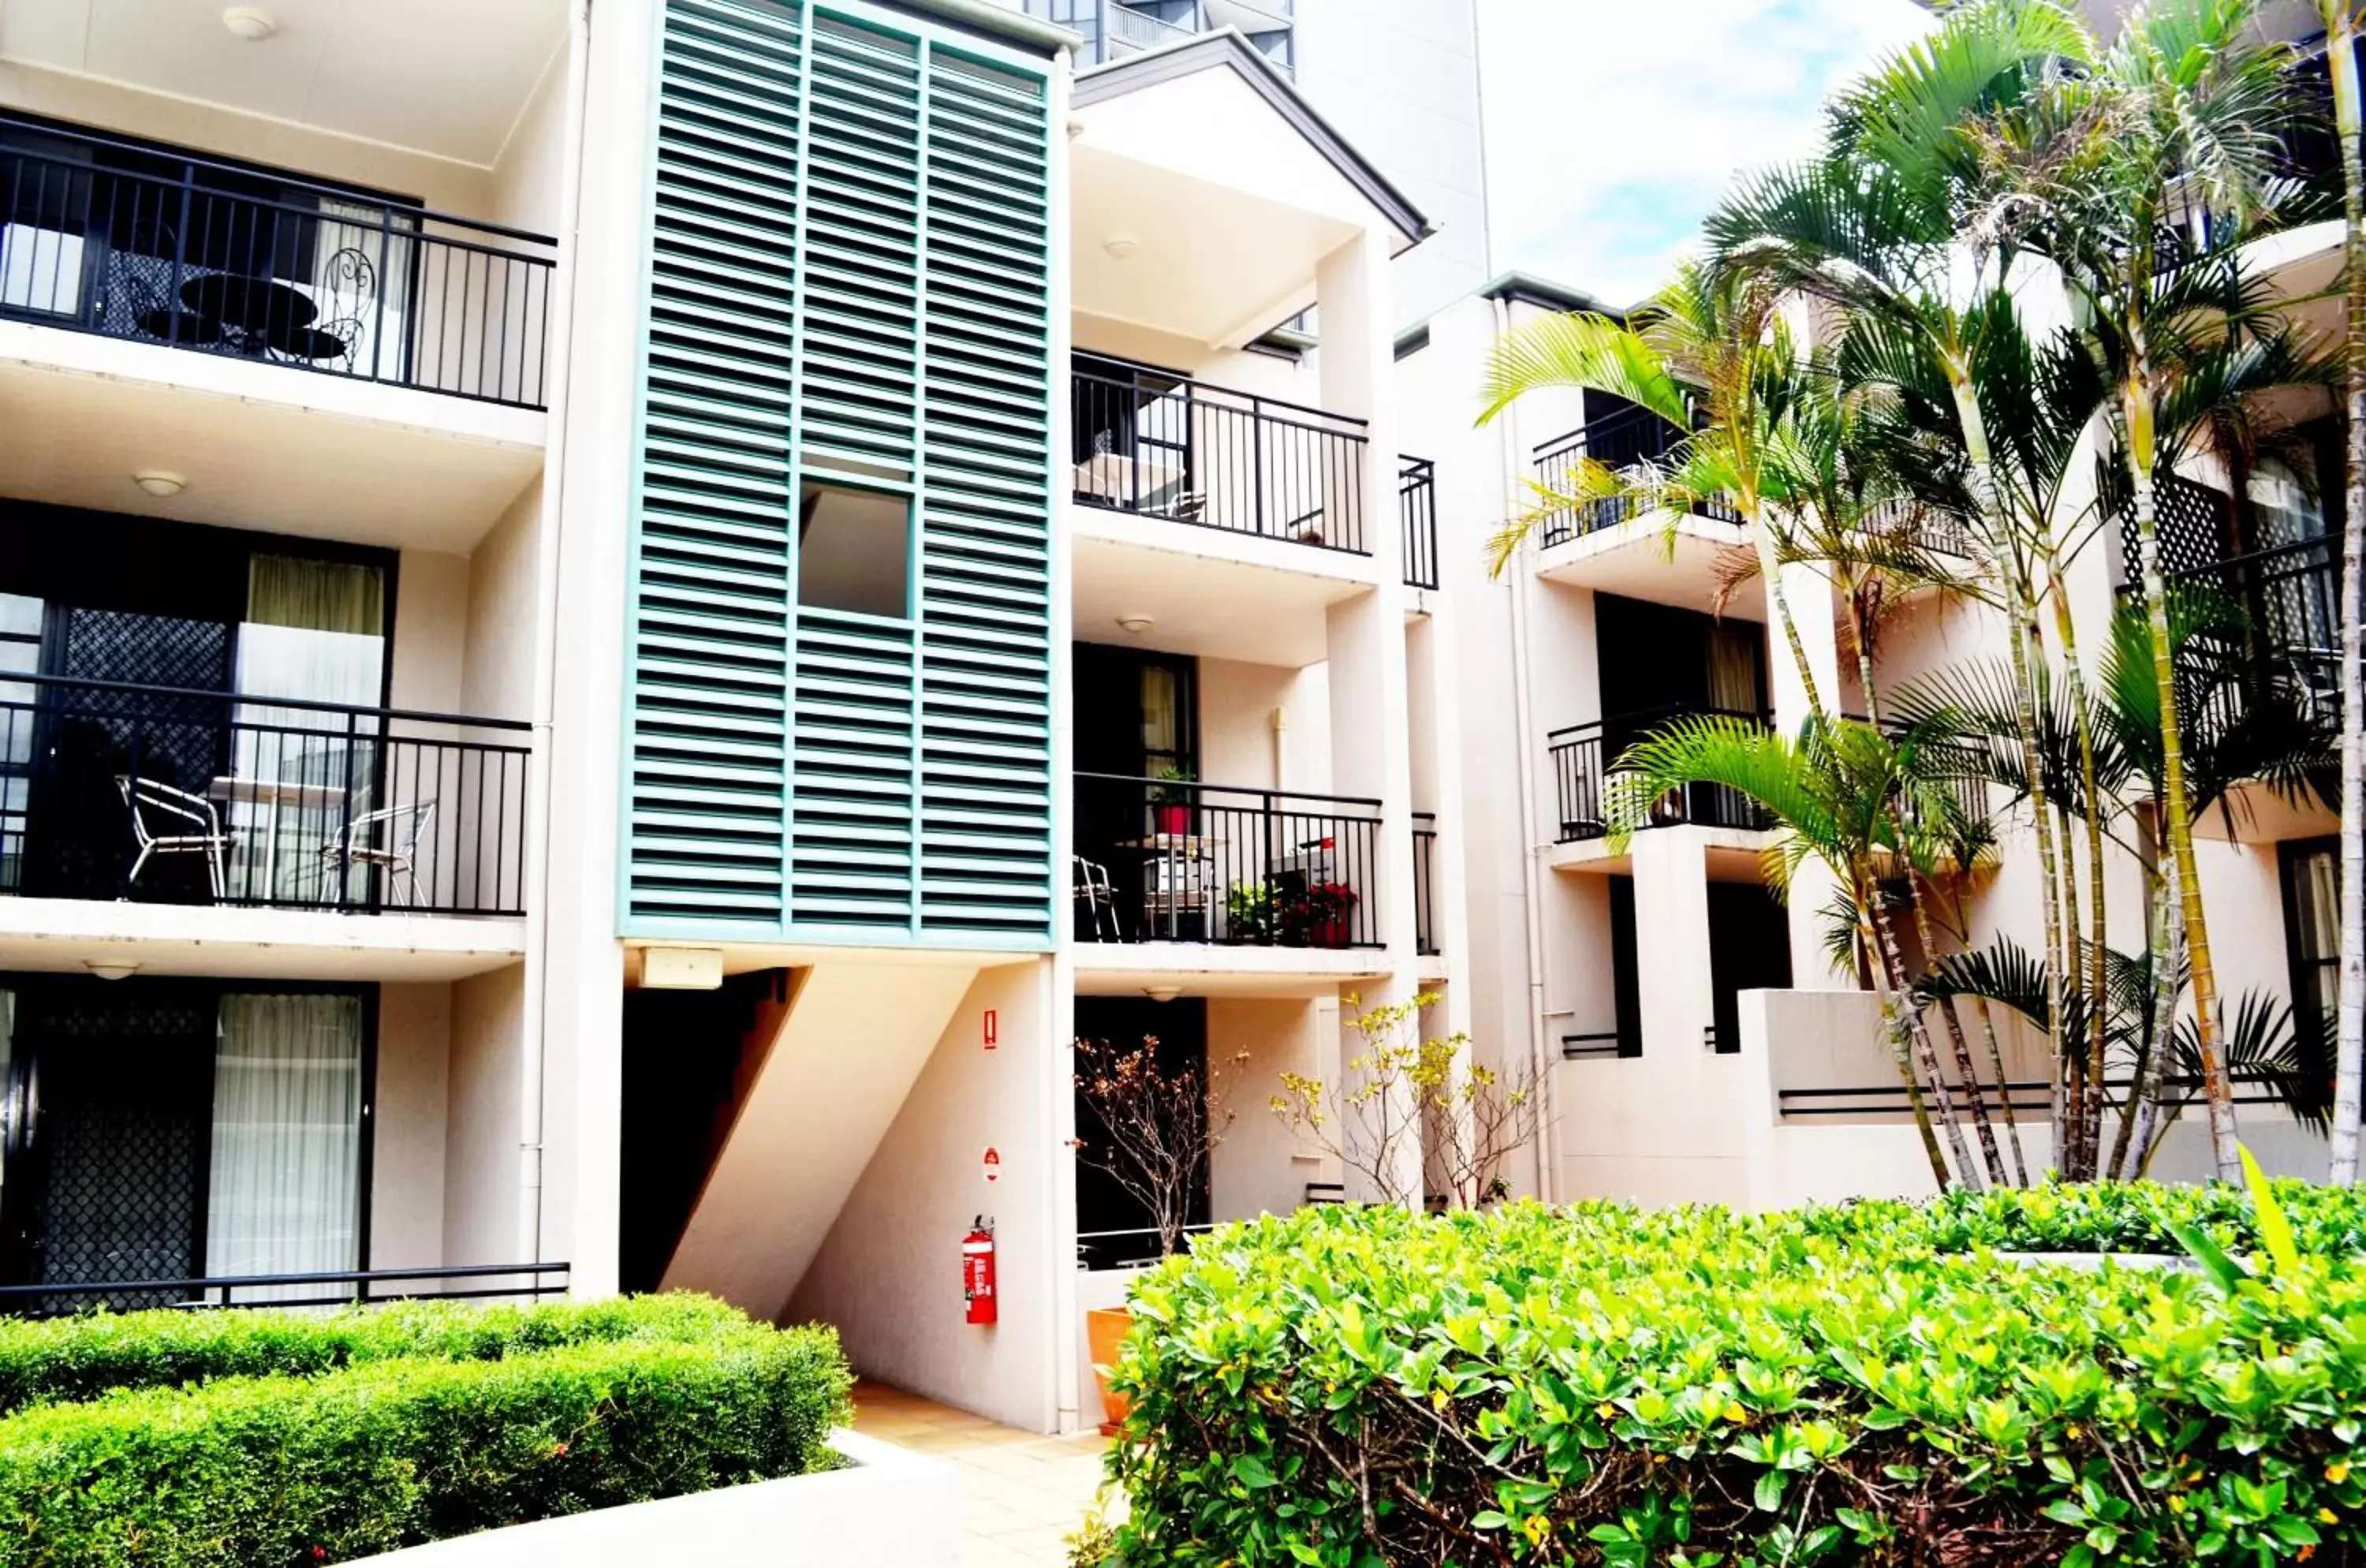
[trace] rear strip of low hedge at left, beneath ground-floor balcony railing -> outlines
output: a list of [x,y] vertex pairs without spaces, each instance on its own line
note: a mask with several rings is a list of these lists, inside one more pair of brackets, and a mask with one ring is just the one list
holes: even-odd
[[237,1308],[0,1320],[0,1414],[47,1400],[218,1376],[312,1376],[395,1358],[499,1360],[601,1341],[696,1343],[745,1329],[748,1317],[738,1308],[691,1294],[537,1305],[390,1301],[338,1313]]

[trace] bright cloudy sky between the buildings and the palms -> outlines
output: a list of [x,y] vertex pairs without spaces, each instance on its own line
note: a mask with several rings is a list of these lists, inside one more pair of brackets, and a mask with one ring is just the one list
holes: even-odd
[[1611,305],[1668,279],[1734,173],[1931,26],[1912,0],[1479,0],[1495,272]]

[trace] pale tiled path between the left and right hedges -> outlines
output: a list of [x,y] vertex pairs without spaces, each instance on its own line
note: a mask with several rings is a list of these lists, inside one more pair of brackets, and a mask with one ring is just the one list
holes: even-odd
[[1098,1436],[1043,1438],[885,1384],[856,1384],[854,1431],[961,1469],[963,1568],[1065,1568],[1100,1490]]

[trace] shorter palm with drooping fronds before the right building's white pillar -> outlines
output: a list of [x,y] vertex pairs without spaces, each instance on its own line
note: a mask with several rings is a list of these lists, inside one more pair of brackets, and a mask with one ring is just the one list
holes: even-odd
[[[1819,861],[1841,887],[1862,948],[1874,958],[1874,991],[1890,1036],[1907,1107],[1940,1187],[1980,1185],[1938,1050],[1912,1003],[1905,953],[1883,896],[1888,873],[1931,875],[1950,837],[1961,837],[1961,804],[1933,773],[1914,736],[1893,740],[1855,719],[1810,719],[1798,738],[1727,714],[1689,714],[1628,747],[1611,769],[1607,814],[1611,849],[1649,825],[1668,790],[1718,785],[1748,797],[1774,818],[1767,880],[1789,892],[1801,863]],[[1916,830],[1919,828],[1919,830]],[[1978,1081],[1961,1064],[1964,1086]],[[1924,1095],[1928,1093],[1928,1102]],[[1947,1130],[1947,1156],[1933,1133],[1931,1102]]]

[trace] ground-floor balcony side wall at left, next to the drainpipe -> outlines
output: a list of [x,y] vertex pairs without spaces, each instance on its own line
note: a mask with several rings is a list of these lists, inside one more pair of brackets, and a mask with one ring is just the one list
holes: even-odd
[[[452,986],[452,1114],[445,1130],[445,1263],[521,1263],[518,1102],[525,1093],[525,965]],[[570,1261],[565,1249],[547,1258]]]

